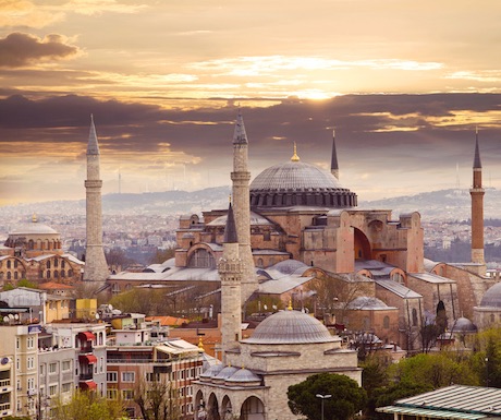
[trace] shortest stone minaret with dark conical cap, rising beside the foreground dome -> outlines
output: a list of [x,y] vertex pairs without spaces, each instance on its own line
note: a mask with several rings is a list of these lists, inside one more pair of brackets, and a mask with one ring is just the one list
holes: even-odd
[[227,362],[225,353],[237,347],[242,338],[242,276],[244,262],[239,255],[239,240],[233,208],[230,203],[227,227],[222,245],[222,257],[218,263],[221,278],[221,349],[222,361]]

